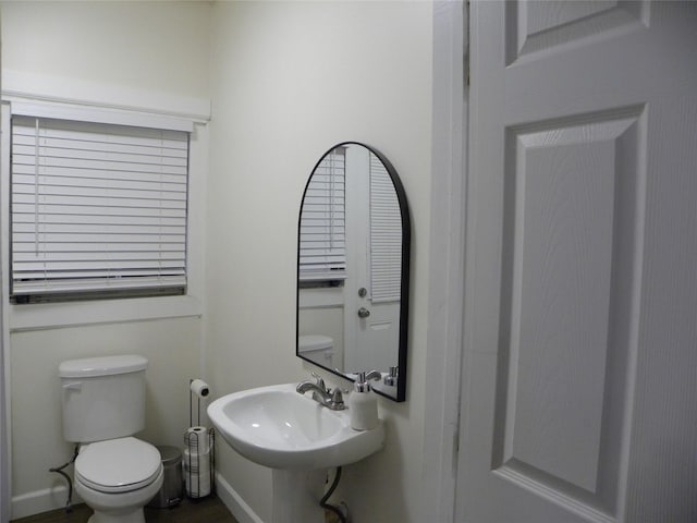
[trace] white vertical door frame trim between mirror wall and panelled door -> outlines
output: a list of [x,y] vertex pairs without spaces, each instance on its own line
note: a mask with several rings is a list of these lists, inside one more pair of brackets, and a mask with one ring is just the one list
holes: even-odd
[[433,3],[431,215],[424,414],[424,513],[420,521],[455,516],[467,202],[467,3]]

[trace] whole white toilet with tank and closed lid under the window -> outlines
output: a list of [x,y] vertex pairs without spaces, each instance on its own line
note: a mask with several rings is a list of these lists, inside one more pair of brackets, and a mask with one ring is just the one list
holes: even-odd
[[145,523],[143,507],[162,486],[160,452],[133,437],[145,428],[145,369],[138,355],[60,364],[63,437],[80,443],[75,491],[88,523]]

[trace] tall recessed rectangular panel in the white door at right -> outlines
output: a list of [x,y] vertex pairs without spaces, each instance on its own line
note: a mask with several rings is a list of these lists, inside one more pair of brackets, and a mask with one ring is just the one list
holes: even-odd
[[493,463],[594,507],[616,501],[640,111],[508,137]]

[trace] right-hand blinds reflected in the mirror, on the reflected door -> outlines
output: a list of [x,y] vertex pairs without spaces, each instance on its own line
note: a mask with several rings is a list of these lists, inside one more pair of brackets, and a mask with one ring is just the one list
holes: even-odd
[[370,154],[370,296],[374,303],[400,301],[402,214],[392,179]]

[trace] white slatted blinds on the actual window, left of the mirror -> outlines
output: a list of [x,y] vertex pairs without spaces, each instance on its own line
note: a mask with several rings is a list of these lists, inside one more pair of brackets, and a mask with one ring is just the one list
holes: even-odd
[[188,133],[12,119],[12,295],[186,287]]

